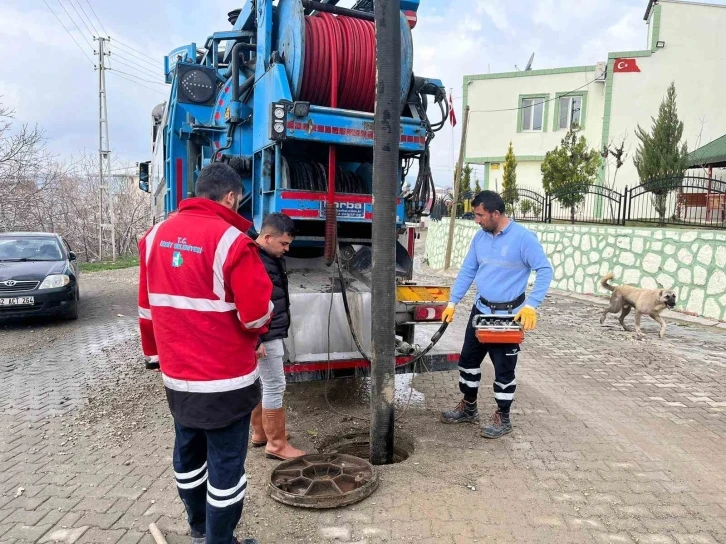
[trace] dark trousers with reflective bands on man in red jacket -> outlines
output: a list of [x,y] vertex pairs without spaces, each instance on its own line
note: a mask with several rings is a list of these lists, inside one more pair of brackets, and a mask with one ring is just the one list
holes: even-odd
[[174,477],[189,526],[207,544],[231,544],[247,489],[250,415],[221,429],[175,428]]

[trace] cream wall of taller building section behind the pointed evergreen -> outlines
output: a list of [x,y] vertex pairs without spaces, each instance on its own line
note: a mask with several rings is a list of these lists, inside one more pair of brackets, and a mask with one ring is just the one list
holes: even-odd
[[639,73],[612,74],[610,139],[627,135],[626,147],[632,150],[618,173],[620,187],[639,183],[632,161],[638,144],[635,129],[640,124],[650,130],[671,81],[689,151],[726,133],[726,7],[662,0],[660,8],[659,39],[665,47],[638,58]]

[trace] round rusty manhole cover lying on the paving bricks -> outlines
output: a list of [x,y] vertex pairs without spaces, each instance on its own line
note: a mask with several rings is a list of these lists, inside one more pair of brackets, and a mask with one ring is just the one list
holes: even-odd
[[378,474],[360,457],[340,453],[303,455],[280,463],[270,476],[270,495],[302,508],[336,508],[365,499]]

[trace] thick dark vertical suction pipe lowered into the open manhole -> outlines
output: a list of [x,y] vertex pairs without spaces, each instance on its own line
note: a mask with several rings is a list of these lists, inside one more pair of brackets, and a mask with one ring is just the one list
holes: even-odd
[[373,357],[371,452],[393,462],[396,330],[396,196],[401,137],[401,1],[376,0],[376,108],[373,116]]

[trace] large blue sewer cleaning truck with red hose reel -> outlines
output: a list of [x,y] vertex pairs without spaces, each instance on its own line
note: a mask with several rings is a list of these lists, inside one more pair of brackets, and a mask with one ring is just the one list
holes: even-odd
[[[231,28],[172,50],[164,57],[170,95],[152,112],[152,159],[139,164],[154,222],[194,196],[200,170],[215,161],[240,174],[238,211],[254,229],[272,212],[295,221],[288,381],[370,367],[373,1],[337,3],[248,0],[229,12]],[[458,360],[443,342],[417,357],[449,299],[448,287],[412,281],[417,227],[435,197],[430,145],[448,117],[443,84],[413,73],[418,9],[419,0],[401,1],[400,165],[390,180],[398,188],[397,372],[445,370]],[[423,324],[434,327],[418,330]]]

